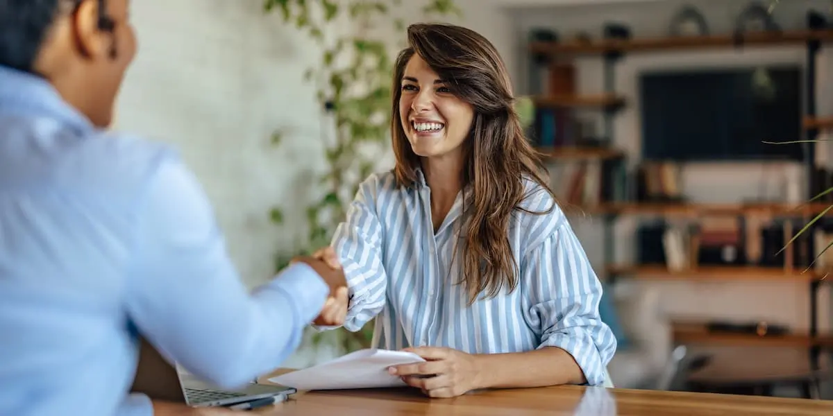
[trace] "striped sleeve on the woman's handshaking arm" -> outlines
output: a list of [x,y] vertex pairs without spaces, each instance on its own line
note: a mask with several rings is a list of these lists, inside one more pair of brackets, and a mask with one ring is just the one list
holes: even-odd
[[382,224],[374,206],[377,189],[375,176],[362,182],[347,210],[347,219],[338,225],[332,238],[332,247],[342,262],[350,295],[344,328],[353,332],[376,317],[387,300],[387,274],[382,265]]

